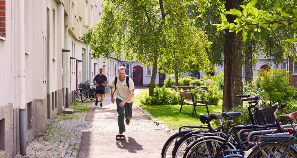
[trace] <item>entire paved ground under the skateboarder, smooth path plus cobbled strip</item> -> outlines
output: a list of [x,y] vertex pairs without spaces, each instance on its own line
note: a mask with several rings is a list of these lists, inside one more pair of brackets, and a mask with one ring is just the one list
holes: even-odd
[[[135,95],[139,94],[135,89]],[[133,107],[133,116],[126,125],[126,140],[116,140],[119,131],[116,105],[106,95],[103,108],[88,103],[88,113],[62,114],[54,118],[43,136],[27,145],[23,158],[155,158],[160,157],[165,141],[173,132],[164,132],[143,112]],[[75,106],[75,105],[73,105]]]

